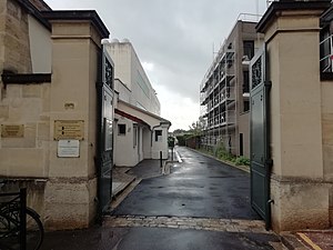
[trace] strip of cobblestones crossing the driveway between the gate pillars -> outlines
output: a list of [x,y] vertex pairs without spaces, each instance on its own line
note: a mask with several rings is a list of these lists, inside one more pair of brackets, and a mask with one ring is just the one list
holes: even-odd
[[261,220],[211,219],[191,217],[145,217],[110,216],[104,218],[104,227],[150,227],[175,228],[226,232],[273,233],[264,229]]

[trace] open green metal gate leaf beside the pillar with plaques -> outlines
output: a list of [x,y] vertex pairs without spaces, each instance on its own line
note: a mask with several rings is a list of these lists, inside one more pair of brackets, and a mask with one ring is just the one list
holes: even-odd
[[101,50],[99,80],[97,83],[98,121],[97,121],[97,168],[99,217],[109,208],[112,198],[113,166],[113,62],[105,48]]

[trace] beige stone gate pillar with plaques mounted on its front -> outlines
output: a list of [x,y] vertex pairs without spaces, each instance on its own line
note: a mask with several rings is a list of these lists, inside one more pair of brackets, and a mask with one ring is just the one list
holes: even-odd
[[[43,17],[52,24],[53,53],[44,224],[49,229],[87,228],[97,216],[95,84],[101,39],[109,31],[95,11],[49,11]],[[78,156],[67,156],[62,138],[78,142]]]

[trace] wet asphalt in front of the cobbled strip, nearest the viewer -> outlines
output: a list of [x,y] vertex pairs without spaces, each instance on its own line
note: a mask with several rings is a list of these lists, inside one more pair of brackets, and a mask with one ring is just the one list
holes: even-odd
[[265,233],[92,228],[47,233],[41,250],[273,250],[269,242],[278,241]]

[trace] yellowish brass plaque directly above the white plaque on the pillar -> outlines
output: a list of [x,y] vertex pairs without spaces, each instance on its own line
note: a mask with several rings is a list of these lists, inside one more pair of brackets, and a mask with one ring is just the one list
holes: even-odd
[[84,139],[84,121],[83,120],[57,120],[54,121],[54,140]]

